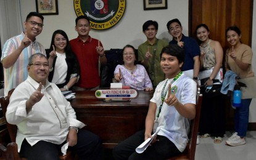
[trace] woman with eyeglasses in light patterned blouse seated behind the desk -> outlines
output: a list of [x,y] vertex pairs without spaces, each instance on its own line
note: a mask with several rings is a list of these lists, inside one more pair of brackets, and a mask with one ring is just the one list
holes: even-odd
[[117,65],[114,71],[114,81],[122,82],[138,90],[153,90],[151,79],[142,65],[137,65],[138,54],[131,45],[123,47],[123,65]]

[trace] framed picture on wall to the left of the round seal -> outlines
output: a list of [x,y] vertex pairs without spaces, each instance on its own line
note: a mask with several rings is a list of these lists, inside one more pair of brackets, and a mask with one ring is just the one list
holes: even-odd
[[58,15],[58,1],[36,0],[36,12],[41,15]]

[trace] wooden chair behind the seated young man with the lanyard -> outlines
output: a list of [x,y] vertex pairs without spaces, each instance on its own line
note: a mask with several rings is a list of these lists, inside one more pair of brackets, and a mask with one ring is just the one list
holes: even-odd
[[199,120],[200,120],[200,112],[202,105],[202,94],[200,94],[200,90],[197,90],[197,104],[196,104],[196,117],[191,120],[191,131],[189,134],[189,143],[186,146],[186,149],[178,156],[168,158],[168,160],[194,160],[196,154],[196,140],[197,140],[197,132],[199,128]]

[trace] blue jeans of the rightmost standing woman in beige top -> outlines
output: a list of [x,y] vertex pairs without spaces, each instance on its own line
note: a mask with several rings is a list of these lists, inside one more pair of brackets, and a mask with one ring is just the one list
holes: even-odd
[[249,106],[252,99],[242,99],[241,107],[237,107],[234,111],[234,129],[240,137],[246,137],[249,122]]

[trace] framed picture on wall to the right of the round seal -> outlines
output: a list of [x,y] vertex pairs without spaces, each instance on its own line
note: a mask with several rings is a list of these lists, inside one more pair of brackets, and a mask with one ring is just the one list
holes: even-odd
[[143,0],[144,10],[167,9],[167,0]]

